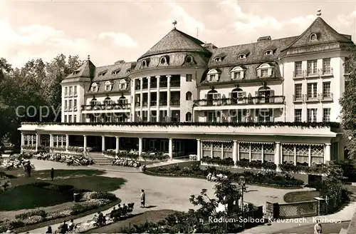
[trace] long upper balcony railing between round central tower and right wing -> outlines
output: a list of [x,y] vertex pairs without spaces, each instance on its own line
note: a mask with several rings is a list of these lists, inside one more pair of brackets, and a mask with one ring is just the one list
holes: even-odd
[[240,104],[261,104],[261,103],[284,103],[285,96],[256,96],[251,98],[220,98],[220,99],[201,99],[194,100],[197,106],[229,106]]

